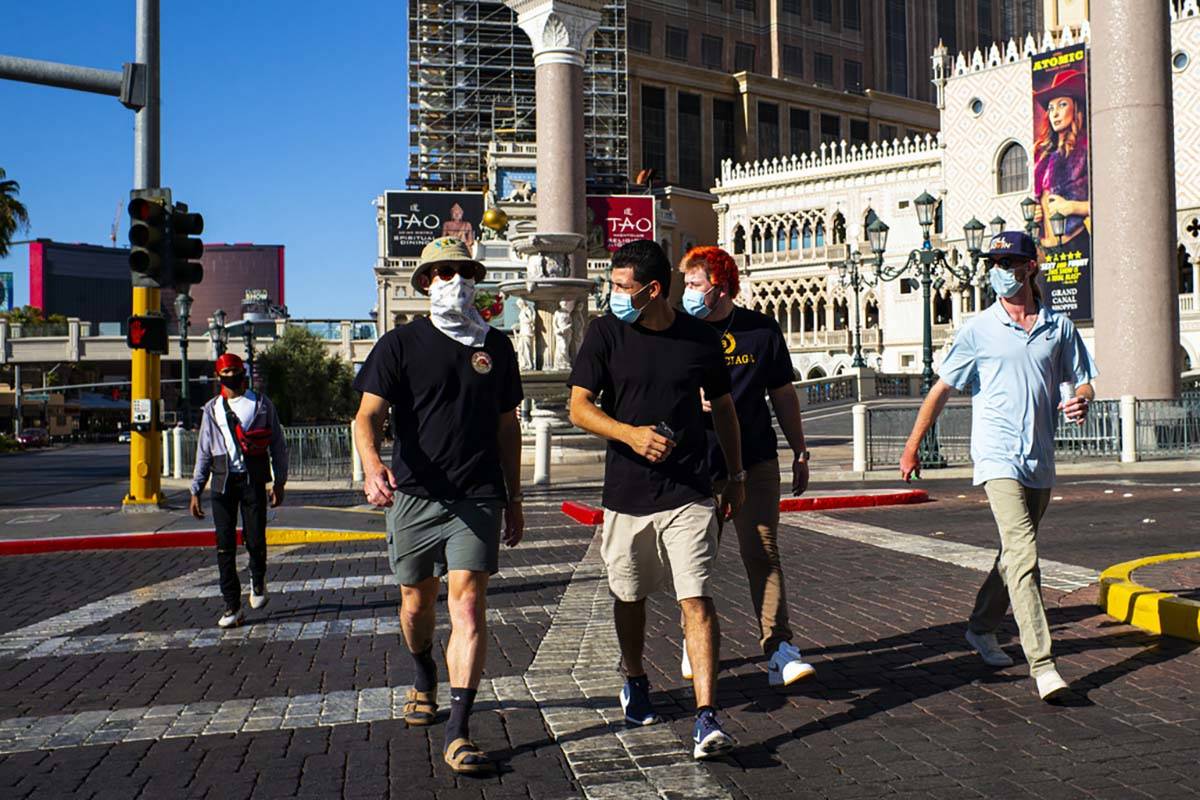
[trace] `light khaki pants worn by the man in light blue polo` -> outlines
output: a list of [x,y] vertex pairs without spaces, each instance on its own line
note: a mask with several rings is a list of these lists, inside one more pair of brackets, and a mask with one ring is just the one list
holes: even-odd
[[992,633],[1012,603],[1030,674],[1037,678],[1054,668],[1037,542],[1050,489],[1033,489],[1012,479],[988,481],[983,488],[1000,528],[1000,555],[979,589],[968,627],[974,633]]

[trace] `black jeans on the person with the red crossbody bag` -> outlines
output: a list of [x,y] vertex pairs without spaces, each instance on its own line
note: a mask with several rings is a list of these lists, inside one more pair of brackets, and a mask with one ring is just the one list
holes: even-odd
[[238,581],[238,507],[241,507],[242,541],[250,554],[250,578],[262,587],[266,578],[266,485],[251,483],[245,475],[230,474],[224,494],[212,495],[212,522],[217,528],[217,570],[221,596],[228,608],[241,608]]

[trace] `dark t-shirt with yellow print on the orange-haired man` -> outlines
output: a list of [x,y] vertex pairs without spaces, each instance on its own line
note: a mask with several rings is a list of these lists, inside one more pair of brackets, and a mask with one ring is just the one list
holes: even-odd
[[[738,408],[738,422],[742,426],[742,464],[750,469],[778,456],[767,392],[792,383],[792,360],[787,355],[787,344],[779,323],[766,314],[737,307],[732,318],[726,317],[708,325],[721,336],[721,350],[725,353],[725,365],[730,368],[733,386],[733,404]],[[712,415],[704,415],[704,425],[708,431],[708,459],[713,480],[722,480],[728,473],[713,432]]]

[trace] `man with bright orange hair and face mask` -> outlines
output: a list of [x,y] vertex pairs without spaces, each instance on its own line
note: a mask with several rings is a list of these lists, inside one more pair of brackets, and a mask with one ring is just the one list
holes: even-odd
[[[809,451],[804,446],[800,403],[792,387],[792,361],[784,333],[774,319],[743,306],[738,296],[738,266],[720,247],[694,247],[679,265],[684,275],[683,308],[710,324],[721,337],[725,365],[733,385],[733,403],[742,423],[742,464],[745,470],[745,503],[733,516],[742,564],[750,582],[750,600],[758,614],[758,637],[769,658],[772,686],[787,686],[814,674],[792,644],[787,624],[787,594],[779,558],[780,473],[775,429],[770,425],[767,396],[779,427],[792,447],[792,493],[809,486]],[[708,403],[704,403],[708,410]],[[709,468],[720,494],[728,480],[725,459],[708,426]],[[688,649],[683,674],[690,676]]]

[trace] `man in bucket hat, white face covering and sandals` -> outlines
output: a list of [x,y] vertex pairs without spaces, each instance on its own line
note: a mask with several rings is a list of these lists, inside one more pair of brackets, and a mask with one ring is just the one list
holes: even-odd
[[[475,282],[484,275],[461,240],[426,245],[413,287],[430,296],[430,315],[384,335],[354,381],[362,392],[355,445],[364,492],[388,510],[388,555],[415,673],[404,721],[427,726],[437,715],[434,603],[445,577],[450,715],[443,757],[455,772],[469,774],[493,769],[468,726],[487,652],[487,582],[499,569],[500,541],[512,547],[524,530],[521,375],[509,338],[475,309]],[[379,457],[389,413],[390,468]]]

